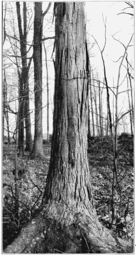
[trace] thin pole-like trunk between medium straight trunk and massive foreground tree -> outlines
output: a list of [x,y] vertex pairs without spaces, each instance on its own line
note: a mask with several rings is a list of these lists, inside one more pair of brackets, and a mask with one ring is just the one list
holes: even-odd
[[47,53],[44,44],[45,51],[45,64],[46,64],[46,72],[47,72],[47,141],[49,141],[49,75],[48,75],[48,65],[47,65]]

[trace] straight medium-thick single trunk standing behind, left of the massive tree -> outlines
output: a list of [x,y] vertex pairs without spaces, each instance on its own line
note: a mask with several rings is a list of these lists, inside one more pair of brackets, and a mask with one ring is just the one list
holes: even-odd
[[43,124],[42,124],[42,3],[34,3],[34,145],[32,157],[43,154]]

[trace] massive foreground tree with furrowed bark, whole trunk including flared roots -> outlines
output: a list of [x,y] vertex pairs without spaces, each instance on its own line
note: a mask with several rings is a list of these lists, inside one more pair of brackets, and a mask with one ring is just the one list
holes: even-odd
[[[53,138],[44,209],[4,252],[33,253],[38,250],[38,253],[46,253],[45,243],[49,236],[51,248],[54,248],[54,240],[58,240],[61,245],[55,248],[65,253],[81,253],[83,241],[86,252],[115,253],[116,242],[110,230],[103,228],[97,219],[89,179],[84,3],[60,2],[55,12]],[[47,229],[49,221],[50,230]]]

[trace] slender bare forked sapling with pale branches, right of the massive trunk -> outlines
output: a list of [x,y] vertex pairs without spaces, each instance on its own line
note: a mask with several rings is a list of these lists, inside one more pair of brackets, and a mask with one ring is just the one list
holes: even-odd
[[[107,75],[106,75],[106,67],[105,67],[105,61],[104,61],[104,57],[103,57],[103,51],[105,49],[106,46],[106,21],[104,23],[105,26],[105,42],[104,42],[104,46],[103,49],[101,50],[97,41],[97,46],[101,52],[101,56],[102,56],[102,63],[103,63],[103,68],[104,68],[104,79],[105,79],[105,84],[106,84],[106,89],[107,89],[107,109],[108,109],[108,116],[109,116],[109,128],[110,128],[110,133],[111,133],[111,138],[112,138],[112,150],[113,150],[113,178],[112,178],[112,200],[111,200],[111,209],[112,209],[112,224],[115,225],[116,223],[116,219],[117,219],[117,209],[116,209],[116,187],[118,186],[118,189],[121,193],[121,188],[120,188],[120,180],[117,177],[117,173],[118,173],[118,168],[117,168],[117,158],[119,155],[119,150],[118,150],[118,142],[117,142],[117,128],[118,128],[118,123],[121,120],[121,118],[123,118],[127,113],[130,112],[127,111],[126,113],[122,114],[121,117],[119,117],[118,115],[118,95],[122,92],[119,92],[119,87],[121,85],[120,83],[120,76],[121,76],[121,67],[123,65],[123,61],[125,59],[126,53],[127,53],[127,49],[130,46],[131,40],[133,35],[131,36],[130,41],[128,42],[127,46],[124,46],[122,43],[122,45],[125,48],[124,54],[123,56],[121,56],[119,58],[119,60],[121,59],[120,65],[119,65],[119,70],[118,70],[118,77],[117,77],[117,86],[116,86],[116,92],[113,92],[113,90],[108,86],[108,82],[107,82]],[[117,40],[114,36],[113,36],[114,40]],[[119,41],[120,42],[120,41]],[[115,95],[115,122],[112,122],[112,113],[111,113],[111,107],[110,107],[110,94],[109,94],[109,89],[113,92],[113,94]],[[124,92],[124,91],[123,91]],[[125,91],[126,92],[126,91]],[[112,129],[112,127],[114,126],[114,130]],[[120,208],[121,208],[121,196],[120,196]]]

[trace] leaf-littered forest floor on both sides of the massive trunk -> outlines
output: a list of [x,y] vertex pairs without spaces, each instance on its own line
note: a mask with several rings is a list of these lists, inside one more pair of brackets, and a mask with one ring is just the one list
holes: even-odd
[[[111,139],[104,137],[103,140],[99,138],[91,140],[92,142],[88,146],[88,160],[97,216],[103,225],[111,228],[110,206],[113,170]],[[133,250],[134,227],[133,139],[121,137],[118,146],[120,154],[117,177],[120,185],[116,194],[117,223],[113,231],[120,240],[124,253],[130,253]],[[3,146],[3,248],[14,240],[41,204],[49,168],[51,145],[46,143],[43,144],[43,147],[44,156],[42,158],[30,159],[29,153],[25,151],[24,157],[18,158],[19,218],[16,218],[14,144]],[[126,210],[127,215],[125,215]]]

